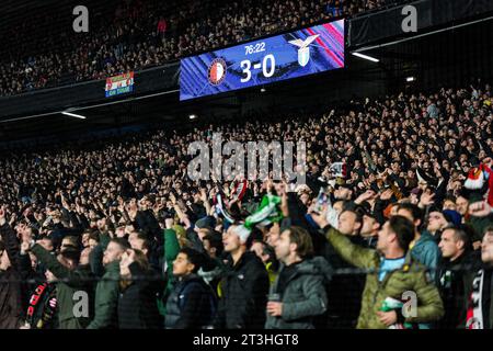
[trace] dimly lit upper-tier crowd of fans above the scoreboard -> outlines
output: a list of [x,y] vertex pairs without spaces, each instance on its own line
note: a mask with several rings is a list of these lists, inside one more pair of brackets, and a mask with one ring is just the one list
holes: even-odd
[[89,9],[89,33],[73,32],[71,9],[53,13],[44,9],[23,14],[19,23],[5,27],[0,95],[160,66],[193,53],[394,2],[113,1],[103,9]]

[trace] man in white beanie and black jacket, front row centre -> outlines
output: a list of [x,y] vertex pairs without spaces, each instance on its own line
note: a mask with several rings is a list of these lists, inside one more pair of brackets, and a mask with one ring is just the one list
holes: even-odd
[[248,251],[251,230],[233,224],[222,235],[225,251],[229,254],[221,280],[214,327],[218,329],[262,329],[268,293],[268,274],[262,260]]

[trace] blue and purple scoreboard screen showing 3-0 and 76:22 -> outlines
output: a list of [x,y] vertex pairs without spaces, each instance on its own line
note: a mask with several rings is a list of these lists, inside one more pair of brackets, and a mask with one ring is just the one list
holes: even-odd
[[344,20],[183,58],[180,100],[344,67]]

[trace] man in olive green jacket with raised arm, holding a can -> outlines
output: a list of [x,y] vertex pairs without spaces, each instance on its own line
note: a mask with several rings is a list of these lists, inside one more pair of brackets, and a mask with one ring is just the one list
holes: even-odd
[[[339,254],[357,268],[367,269],[358,329],[392,328],[402,324],[433,322],[444,315],[438,290],[426,268],[409,254],[414,225],[403,216],[392,216],[378,233],[377,250],[354,245],[329,226],[325,216],[312,215]],[[349,288],[349,287],[348,287]],[[408,301],[411,298],[410,301]],[[390,301],[408,301],[388,310]]]

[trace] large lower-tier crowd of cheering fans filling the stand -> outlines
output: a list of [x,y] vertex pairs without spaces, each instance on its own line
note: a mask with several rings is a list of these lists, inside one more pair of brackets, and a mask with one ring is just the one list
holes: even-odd
[[[492,328],[492,120],[477,82],[3,156],[0,328]],[[192,181],[214,132],[306,184]]]

